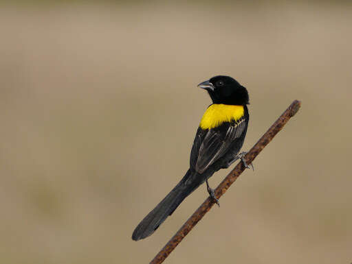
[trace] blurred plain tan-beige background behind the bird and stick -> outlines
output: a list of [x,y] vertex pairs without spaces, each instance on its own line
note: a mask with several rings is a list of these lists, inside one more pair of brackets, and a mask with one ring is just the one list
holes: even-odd
[[165,263],[351,263],[351,25],[351,1],[1,1],[0,263],[151,261],[208,196],[131,240],[218,74],[250,93],[244,150],[302,108]]

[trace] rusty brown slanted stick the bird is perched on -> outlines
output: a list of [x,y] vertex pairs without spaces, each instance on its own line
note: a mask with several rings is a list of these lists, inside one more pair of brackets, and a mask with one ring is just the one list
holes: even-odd
[[[293,101],[292,104],[283,112],[283,115],[279,117],[275,123],[263,134],[261,139],[250,149],[248,154],[245,155],[245,161],[247,164],[251,164],[254,158],[262,151],[262,149],[272,141],[274,136],[283,128],[283,126],[289,121],[291,117],[296,115],[296,112],[300,108],[300,101]],[[215,196],[217,199],[225,193],[230,185],[239,178],[240,174],[245,170],[243,163],[239,163],[232,169],[228,176],[219,184],[217,189],[215,189]],[[164,248],[155,256],[151,261],[151,264],[162,263],[168,255],[176,248],[176,246],[186,237],[188,232],[198,223],[198,221],[203,218],[203,216],[212,208],[214,200],[208,197],[201,206],[193,213],[193,215],[184,223],[183,226],[177,231],[177,233],[166,243]]]

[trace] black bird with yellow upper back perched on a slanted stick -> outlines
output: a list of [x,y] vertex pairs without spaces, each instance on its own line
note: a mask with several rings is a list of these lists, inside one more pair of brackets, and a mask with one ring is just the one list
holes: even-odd
[[190,151],[190,167],[184,178],[137,225],[132,234],[134,241],[152,235],[203,182],[206,182],[210,197],[219,205],[219,200],[208,183],[208,178],[219,169],[227,169],[238,159],[242,160],[245,168],[251,167],[243,158],[246,152],[239,153],[250,120],[247,89],[234,78],[225,75],[214,76],[198,86],[208,92],[212,104],[201,117],[195,134]]

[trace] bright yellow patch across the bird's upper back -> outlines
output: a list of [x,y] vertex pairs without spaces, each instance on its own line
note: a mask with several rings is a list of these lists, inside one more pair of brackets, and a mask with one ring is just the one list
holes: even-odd
[[199,126],[206,130],[216,128],[224,122],[237,121],[244,115],[243,106],[231,106],[228,104],[212,104],[208,107]]

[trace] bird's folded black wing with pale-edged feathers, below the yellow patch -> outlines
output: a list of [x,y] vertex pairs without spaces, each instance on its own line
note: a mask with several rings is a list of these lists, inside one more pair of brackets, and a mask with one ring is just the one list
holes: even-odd
[[230,150],[232,143],[241,136],[246,126],[243,117],[239,121],[223,123],[218,128],[210,130],[198,128],[190,152],[190,167],[198,173],[206,171],[210,165]]

